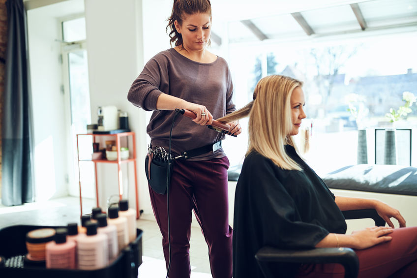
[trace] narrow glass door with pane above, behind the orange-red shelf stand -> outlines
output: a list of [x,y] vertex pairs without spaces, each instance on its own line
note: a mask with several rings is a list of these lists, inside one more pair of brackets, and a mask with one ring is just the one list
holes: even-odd
[[63,92],[66,96],[66,130],[68,131],[67,157],[70,165],[67,179],[68,193],[71,196],[79,196],[79,177],[81,177],[82,196],[94,198],[94,165],[90,162],[81,162],[81,167],[78,169],[77,152],[79,149],[80,153],[92,153],[89,136],[82,136],[87,140],[80,140],[77,146],[77,134],[87,133],[87,124],[91,124],[85,18],[62,21],[62,38]]

